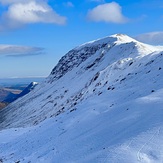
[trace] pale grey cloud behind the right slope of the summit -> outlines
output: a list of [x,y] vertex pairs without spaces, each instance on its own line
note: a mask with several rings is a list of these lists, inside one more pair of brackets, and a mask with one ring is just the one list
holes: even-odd
[[163,31],[140,34],[135,39],[148,44],[163,45]]

